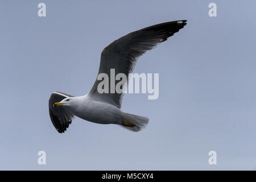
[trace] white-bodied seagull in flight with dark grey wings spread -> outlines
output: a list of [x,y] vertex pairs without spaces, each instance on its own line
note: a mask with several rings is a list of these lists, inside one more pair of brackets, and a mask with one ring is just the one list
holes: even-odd
[[[133,71],[139,56],[174,35],[187,23],[177,20],[160,23],[131,32],[110,43],[101,52],[100,73],[110,77],[110,69],[115,74],[126,76]],[[53,126],[59,133],[64,133],[72,118],[76,115],[86,121],[99,124],[115,124],[130,131],[141,131],[149,119],[121,111],[122,93],[99,93],[101,80],[94,82],[92,89],[85,96],[74,97],[62,92],[53,92],[49,98],[49,115]]]

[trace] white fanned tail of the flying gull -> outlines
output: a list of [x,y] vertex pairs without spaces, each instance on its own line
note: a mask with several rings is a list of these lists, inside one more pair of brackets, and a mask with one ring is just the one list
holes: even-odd
[[119,126],[131,131],[141,131],[147,126],[148,120],[147,117],[123,113],[123,125]]

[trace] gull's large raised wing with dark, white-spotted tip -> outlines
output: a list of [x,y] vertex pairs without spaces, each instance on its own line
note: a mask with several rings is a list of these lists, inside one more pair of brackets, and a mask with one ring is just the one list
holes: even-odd
[[[156,24],[142,30],[131,32],[115,40],[109,46],[104,48],[101,53],[101,63],[98,74],[106,73],[109,76],[110,69],[115,69],[115,75],[125,73],[126,76],[133,71],[136,60],[144,52],[152,49],[156,44],[164,42],[170,36],[174,35],[185,26],[187,20],[178,20]],[[93,100],[107,102],[118,108],[121,107],[122,94],[118,93],[98,93],[97,86],[101,80],[94,82],[94,85],[88,95]],[[115,82],[117,84],[118,81]]]

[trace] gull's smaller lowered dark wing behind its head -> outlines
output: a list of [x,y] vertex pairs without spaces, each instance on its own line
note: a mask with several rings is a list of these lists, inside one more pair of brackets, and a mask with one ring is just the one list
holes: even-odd
[[72,122],[74,115],[63,107],[55,107],[55,102],[60,102],[64,98],[73,97],[61,92],[53,92],[49,98],[49,115],[55,129],[59,133],[64,133],[67,130],[69,124]]

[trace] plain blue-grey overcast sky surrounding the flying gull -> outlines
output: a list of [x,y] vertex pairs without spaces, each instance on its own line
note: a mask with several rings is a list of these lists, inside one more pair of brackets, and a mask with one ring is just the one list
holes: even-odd
[[[38,3],[46,3],[46,17]],[[209,17],[215,2],[217,17]],[[256,1],[1,1],[0,169],[256,169]],[[159,98],[126,94],[150,118],[139,133],[73,119],[57,133],[52,92],[86,94],[100,53],[131,31],[187,19],[138,59],[159,73]],[[38,151],[46,151],[46,165]],[[217,165],[208,152],[217,152]]]

